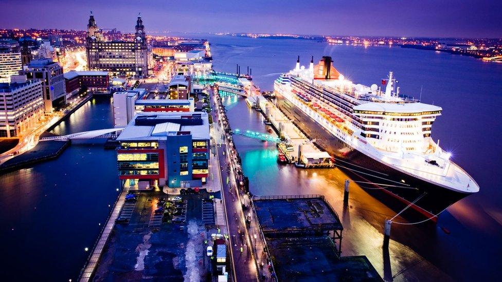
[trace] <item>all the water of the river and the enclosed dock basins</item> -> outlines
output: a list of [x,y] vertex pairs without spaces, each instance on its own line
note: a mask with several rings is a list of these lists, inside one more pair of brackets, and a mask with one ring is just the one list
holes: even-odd
[[[185,35],[187,36],[187,35]],[[236,137],[251,190],[261,195],[324,194],[344,223],[343,255],[366,255],[382,276],[395,280],[493,280],[501,274],[502,161],[496,143],[502,118],[502,64],[433,51],[358,47],[303,40],[248,39],[188,34],[212,43],[214,68],[253,68],[254,82],[272,90],[280,72],[331,55],[348,79],[370,85],[393,70],[403,93],[443,108],[433,138],[481,186],[451,206],[435,224],[393,225],[388,254],[382,251],[383,220],[395,212],[357,186],[343,208],[346,176],[338,170],[297,170],[276,162],[274,144]],[[234,128],[265,132],[258,112],[241,98],[224,99]],[[53,131],[69,134],[110,128],[110,98],[96,98]],[[115,152],[101,141],[74,141],[56,160],[0,176],[1,269],[8,280],[77,278],[118,186]],[[405,219],[398,218],[400,222]],[[446,228],[450,234],[443,232]]]

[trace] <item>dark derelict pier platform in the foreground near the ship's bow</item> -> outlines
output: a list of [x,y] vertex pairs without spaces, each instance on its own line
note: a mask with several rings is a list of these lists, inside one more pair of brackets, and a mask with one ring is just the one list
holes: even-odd
[[279,281],[383,281],[366,256],[340,257],[343,226],[324,196],[254,196],[253,204]]

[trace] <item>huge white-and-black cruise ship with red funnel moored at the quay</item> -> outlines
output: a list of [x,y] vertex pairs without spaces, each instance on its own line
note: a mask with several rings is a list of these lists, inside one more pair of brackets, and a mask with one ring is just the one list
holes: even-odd
[[[476,181],[431,138],[441,107],[403,96],[392,72],[354,84],[322,57],[274,83],[276,104],[360,186],[432,219],[479,191]],[[389,197],[391,196],[391,197]],[[394,205],[392,205],[394,206]]]

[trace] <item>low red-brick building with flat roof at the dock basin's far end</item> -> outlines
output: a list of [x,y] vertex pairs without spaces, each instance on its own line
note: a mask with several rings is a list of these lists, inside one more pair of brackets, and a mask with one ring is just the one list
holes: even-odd
[[91,91],[106,91],[110,85],[107,71],[68,71],[63,73],[66,92],[73,95],[82,87]]

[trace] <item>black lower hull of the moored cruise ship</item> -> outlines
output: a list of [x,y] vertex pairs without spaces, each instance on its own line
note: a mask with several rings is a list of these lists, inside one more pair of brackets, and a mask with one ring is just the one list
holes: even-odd
[[[433,217],[433,220],[436,220],[437,215],[448,206],[470,195],[410,176],[374,160],[329,133],[293,103],[282,97],[280,93],[277,93],[276,101],[279,109],[306,136],[315,139],[317,146],[335,158],[336,166],[340,170],[343,170],[352,179],[360,181],[360,186],[365,188],[369,194],[396,211],[414,203],[411,204],[410,208],[427,218]],[[403,188],[403,186],[407,188]]]

